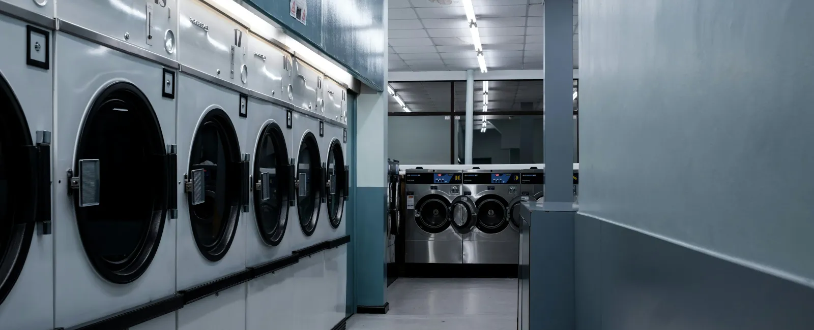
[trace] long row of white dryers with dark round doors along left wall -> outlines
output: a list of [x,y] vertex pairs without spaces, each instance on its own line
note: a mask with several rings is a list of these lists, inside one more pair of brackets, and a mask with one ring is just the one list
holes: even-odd
[[344,319],[347,86],[199,0],[0,31],[0,328]]

